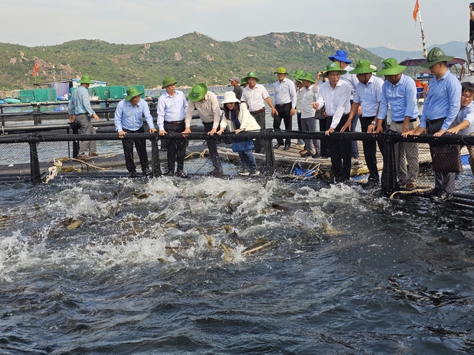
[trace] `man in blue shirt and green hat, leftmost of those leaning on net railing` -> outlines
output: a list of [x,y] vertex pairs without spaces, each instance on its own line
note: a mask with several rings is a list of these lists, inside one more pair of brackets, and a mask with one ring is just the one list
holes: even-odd
[[[142,92],[137,90],[135,86],[127,89],[127,97],[121,100],[117,104],[115,109],[114,124],[116,132],[119,132],[119,137],[123,139],[126,134],[137,134],[144,133],[143,127],[143,116],[145,116],[146,123],[148,124],[150,133],[155,133],[155,125],[153,124],[153,117],[150,114],[150,109],[145,100],[140,95]],[[133,145],[135,143],[135,149],[137,150],[138,157],[140,159],[140,165],[142,166],[142,172],[144,177],[151,176],[151,171],[148,168],[148,153],[146,152],[146,140],[145,139],[125,139],[122,141],[123,155],[125,157],[125,166],[130,173],[130,178],[137,177],[137,170],[135,161],[133,159]]]

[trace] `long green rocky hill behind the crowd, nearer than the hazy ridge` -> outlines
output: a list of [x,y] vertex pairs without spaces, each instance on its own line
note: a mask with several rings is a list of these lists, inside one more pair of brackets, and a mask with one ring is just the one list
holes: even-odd
[[[257,72],[262,83],[276,80],[275,70],[286,67],[316,73],[330,61],[337,49],[349,53],[352,61],[368,59],[379,66],[382,58],[358,45],[335,38],[301,32],[268,33],[237,42],[217,41],[201,33],[142,45],[111,44],[102,40],[73,40],[61,45],[25,47],[0,43],[0,90],[32,88],[41,81],[79,78],[109,85],[143,84],[160,86],[165,76],[178,80],[178,86],[199,82],[227,85],[229,78]],[[38,63],[39,78],[33,77]],[[54,70],[53,70],[54,68]]]

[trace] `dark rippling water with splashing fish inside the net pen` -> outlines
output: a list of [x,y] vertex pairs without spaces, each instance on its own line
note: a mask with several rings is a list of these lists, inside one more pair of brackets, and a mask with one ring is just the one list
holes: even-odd
[[2,184],[0,353],[471,354],[472,219],[263,177]]

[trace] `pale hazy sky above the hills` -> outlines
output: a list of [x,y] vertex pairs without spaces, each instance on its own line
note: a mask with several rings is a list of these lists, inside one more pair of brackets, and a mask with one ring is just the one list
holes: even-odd
[[[466,42],[469,1],[418,0],[427,47]],[[422,50],[416,0],[15,0],[2,1],[0,42],[27,47],[70,40],[159,42],[197,31],[238,41],[305,32],[361,47]]]

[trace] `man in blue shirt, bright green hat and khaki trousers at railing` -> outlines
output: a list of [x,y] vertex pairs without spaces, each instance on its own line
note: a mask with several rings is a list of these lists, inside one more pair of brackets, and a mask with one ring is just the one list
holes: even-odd
[[[383,131],[382,123],[388,113],[388,104],[392,113],[390,122],[392,131],[404,134],[418,126],[416,85],[411,77],[402,74],[405,68],[405,65],[397,63],[397,59],[388,58],[383,61],[382,69],[377,72],[385,76],[385,82],[382,86],[376,132]],[[418,144],[395,143],[395,165],[399,187],[408,191],[415,189],[419,170]]]

